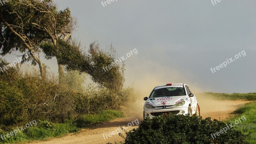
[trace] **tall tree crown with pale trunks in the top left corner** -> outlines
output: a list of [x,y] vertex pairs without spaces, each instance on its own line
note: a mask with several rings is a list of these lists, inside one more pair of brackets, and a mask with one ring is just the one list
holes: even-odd
[[[76,20],[70,16],[70,10],[58,11],[52,0],[10,0],[1,6],[0,12],[2,55],[14,50],[20,52],[35,51],[38,56],[31,55],[24,61],[32,60],[39,65],[42,78],[44,70],[39,59],[42,42],[57,45],[57,40],[70,41],[72,31],[76,28]],[[23,57],[24,58],[24,57]],[[59,82],[64,77],[63,66],[57,58]]]

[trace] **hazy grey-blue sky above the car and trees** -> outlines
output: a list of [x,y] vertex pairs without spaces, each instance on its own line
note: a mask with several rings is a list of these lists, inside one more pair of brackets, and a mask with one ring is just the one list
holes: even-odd
[[[214,5],[211,0],[54,2],[78,19],[73,37],[85,47],[98,41],[105,50],[112,43],[124,57],[138,51],[124,60],[125,86],[134,84],[145,96],[167,83],[186,83],[197,92],[256,92],[255,0],[221,0]],[[11,62],[13,54],[4,58]],[[43,57],[42,53],[42,61],[57,71],[56,59]],[[235,60],[220,68],[231,57]]]

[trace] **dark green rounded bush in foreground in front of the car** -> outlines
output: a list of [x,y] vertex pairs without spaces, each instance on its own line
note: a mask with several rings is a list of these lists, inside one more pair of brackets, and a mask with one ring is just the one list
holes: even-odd
[[233,128],[220,136],[211,134],[227,127],[224,122],[197,116],[164,115],[145,119],[137,129],[126,132],[126,144],[247,144],[246,136]]

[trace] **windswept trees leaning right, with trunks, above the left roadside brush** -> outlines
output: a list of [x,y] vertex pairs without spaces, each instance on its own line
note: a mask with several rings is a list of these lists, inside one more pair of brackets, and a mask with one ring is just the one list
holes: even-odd
[[[63,66],[67,70],[87,73],[100,86],[119,91],[124,82],[124,65],[115,63],[115,51],[103,52],[99,44],[92,43],[88,53],[74,43],[71,35],[76,28],[76,20],[66,8],[58,11],[52,0],[10,0],[1,6],[0,11],[0,50],[1,55],[12,51],[32,52],[28,58],[23,55],[22,63],[32,60],[39,65],[44,78],[44,68],[39,53],[43,50],[45,57],[56,57],[59,67],[59,82],[64,77]],[[109,70],[103,67],[115,65]]]

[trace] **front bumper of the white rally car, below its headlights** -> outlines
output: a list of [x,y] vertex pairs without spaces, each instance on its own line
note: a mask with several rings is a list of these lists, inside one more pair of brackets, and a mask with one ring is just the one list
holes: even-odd
[[166,108],[166,109],[154,109],[154,110],[144,110],[144,118],[149,117],[153,118],[154,116],[161,116],[164,113],[173,113],[176,115],[186,115],[188,114],[188,108],[180,107],[180,108]]

